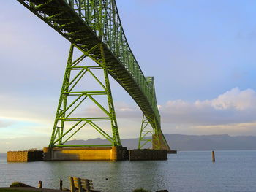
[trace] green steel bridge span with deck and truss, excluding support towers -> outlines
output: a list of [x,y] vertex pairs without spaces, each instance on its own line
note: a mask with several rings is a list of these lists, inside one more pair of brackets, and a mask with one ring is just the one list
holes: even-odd
[[[144,76],[129,47],[115,0],[18,1],[80,50],[101,44],[108,74],[132,96],[151,126],[161,129],[154,78]],[[89,54],[97,61],[101,50]]]

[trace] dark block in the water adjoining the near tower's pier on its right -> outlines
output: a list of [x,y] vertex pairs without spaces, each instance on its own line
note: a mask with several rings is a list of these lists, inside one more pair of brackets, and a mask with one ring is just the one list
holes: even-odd
[[129,150],[129,160],[167,160],[167,150]]

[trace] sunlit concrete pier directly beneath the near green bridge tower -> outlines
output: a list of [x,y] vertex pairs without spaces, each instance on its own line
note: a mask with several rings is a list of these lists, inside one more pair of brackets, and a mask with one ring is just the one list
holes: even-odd
[[118,161],[127,159],[126,147],[45,147],[44,161]]

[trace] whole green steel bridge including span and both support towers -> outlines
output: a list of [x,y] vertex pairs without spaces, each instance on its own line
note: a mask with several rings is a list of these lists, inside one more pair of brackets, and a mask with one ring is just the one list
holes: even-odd
[[[121,146],[108,80],[110,74],[132,96],[143,112],[138,148],[152,142],[154,149],[170,150],[161,131],[154,77],[145,77],[141,71],[125,37],[115,0],[18,1],[71,42],[49,147],[95,146],[66,144],[84,126],[95,128],[108,139],[110,146]],[[74,50],[79,50],[80,55],[75,55]],[[96,64],[83,64],[86,58],[91,58]],[[102,70],[103,81],[97,77],[97,70]],[[102,90],[75,91],[85,74],[91,74]],[[97,101],[97,96],[105,96],[108,99],[108,107],[103,107]],[[74,116],[75,111],[86,99],[93,101],[105,116]],[[112,135],[97,124],[99,121],[110,123]],[[64,129],[64,126],[70,123],[73,123],[72,126]],[[152,139],[148,139],[148,135],[152,135]]]

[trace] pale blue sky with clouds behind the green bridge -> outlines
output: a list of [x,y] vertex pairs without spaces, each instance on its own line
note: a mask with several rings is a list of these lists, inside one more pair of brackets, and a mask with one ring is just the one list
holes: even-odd
[[[256,136],[256,1],[116,3],[140,68],[154,76],[165,134]],[[0,153],[45,147],[69,42],[18,1],[1,2],[0,23]],[[138,137],[142,112],[110,85],[121,138]]]

